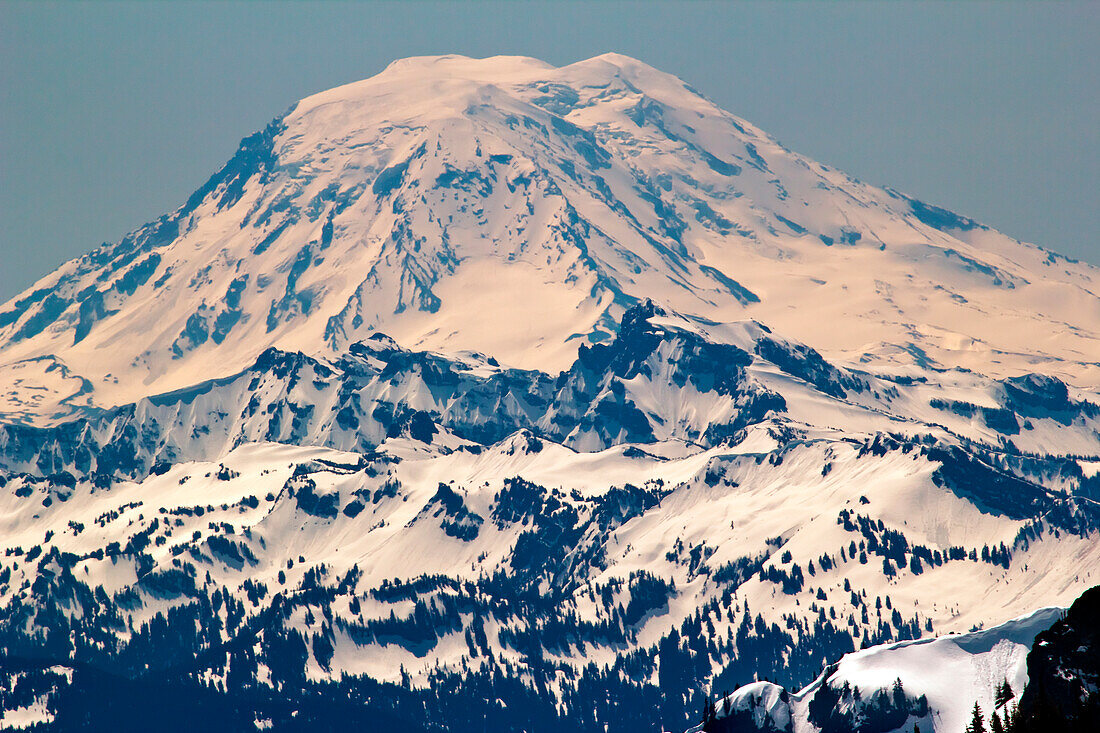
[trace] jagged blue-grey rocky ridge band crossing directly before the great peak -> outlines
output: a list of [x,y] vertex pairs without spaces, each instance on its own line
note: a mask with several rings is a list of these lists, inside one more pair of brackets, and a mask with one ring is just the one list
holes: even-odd
[[1089,482],[1092,463],[1069,457],[1100,451],[1096,403],[1041,375],[937,376],[838,369],[755,321],[703,325],[646,302],[625,314],[614,339],[582,347],[558,375],[505,369],[472,352],[411,352],[382,335],[338,359],[268,349],[239,374],[78,420],[0,425],[0,466],[141,478],[155,466],[216,460],[245,442],[370,452],[408,436],[449,450],[520,429],[575,450],[668,440],[710,447],[781,417],[791,435],[812,427],[860,439],[928,436],[941,451],[980,447],[1057,491]]

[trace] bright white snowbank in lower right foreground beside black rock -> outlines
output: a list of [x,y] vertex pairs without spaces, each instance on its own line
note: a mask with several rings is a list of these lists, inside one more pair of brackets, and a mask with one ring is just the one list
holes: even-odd
[[1035,636],[1064,613],[1047,608],[985,631],[861,649],[793,694],[771,682],[747,685],[715,703],[715,722],[707,730],[818,733],[847,725],[893,733],[919,725],[963,733],[976,702],[987,719],[994,711],[1003,719],[994,690],[1004,681],[1019,701]]

